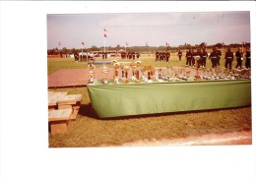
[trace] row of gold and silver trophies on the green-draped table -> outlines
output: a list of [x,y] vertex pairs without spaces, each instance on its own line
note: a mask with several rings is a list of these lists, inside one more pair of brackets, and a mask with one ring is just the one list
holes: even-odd
[[[116,60],[111,61],[111,65],[114,69],[113,72],[113,84],[128,84],[134,83],[152,83],[152,82],[177,82],[177,81],[202,81],[202,80],[234,80],[234,79],[250,79],[250,69],[225,69],[225,68],[213,68],[213,69],[197,69],[196,74],[191,74],[191,69],[186,67],[172,68],[170,66],[154,68],[152,66],[141,67],[142,62],[123,62],[119,63]],[[132,69],[132,76],[129,79],[128,72]],[[94,64],[89,65],[89,85],[95,84],[95,70]],[[121,70],[121,78],[118,71]],[[101,67],[101,73],[103,75],[102,84],[107,85],[109,83],[107,76],[109,70],[106,65]],[[140,77],[140,73],[142,74]]]

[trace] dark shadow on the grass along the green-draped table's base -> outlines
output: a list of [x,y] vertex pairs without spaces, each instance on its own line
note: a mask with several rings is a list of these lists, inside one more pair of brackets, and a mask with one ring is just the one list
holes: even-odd
[[91,103],[83,104],[81,106],[79,114],[91,118],[95,118],[97,120],[127,120],[127,119],[138,119],[138,118],[147,118],[147,117],[160,117],[160,116],[168,116],[168,115],[185,115],[185,114],[192,114],[192,113],[204,113],[204,112],[215,112],[220,110],[231,110],[231,109],[239,109],[244,107],[229,107],[229,108],[220,108],[220,109],[205,109],[205,110],[193,110],[193,111],[179,111],[179,112],[165,112],[165,113],[154,113],[154,114],[140,114],[140,115],[130,115],[130,116],[117,116],[117,117],[109,117],[109,118],[98,118],[96,112],[94,111]]

